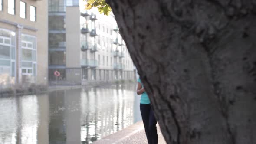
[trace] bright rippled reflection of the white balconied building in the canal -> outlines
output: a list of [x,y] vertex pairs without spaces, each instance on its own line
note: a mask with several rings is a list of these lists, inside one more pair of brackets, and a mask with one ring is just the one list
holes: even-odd
[[141,120],[134,115],[135,111],[139,111],[134,109],[135,99],[139,99],[134,95],[134,87],[115,85],[112,88],[82,90],[81,93],[82,144],[105,137]]

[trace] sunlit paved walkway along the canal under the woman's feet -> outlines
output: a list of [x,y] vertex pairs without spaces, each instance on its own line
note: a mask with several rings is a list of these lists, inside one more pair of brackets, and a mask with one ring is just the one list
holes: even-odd
[[[157,128],[158,144],[166,144],[158,124]],[[148,141],[144,131],[143,122],[139,121],[128,128],[124,128],[121,131],[108,135],[92,144],[148,144]]]

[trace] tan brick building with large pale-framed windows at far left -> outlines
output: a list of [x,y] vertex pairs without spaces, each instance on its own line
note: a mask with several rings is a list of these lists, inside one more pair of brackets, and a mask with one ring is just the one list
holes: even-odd
[[47,0],[0,0],[0,88],[48,84]]

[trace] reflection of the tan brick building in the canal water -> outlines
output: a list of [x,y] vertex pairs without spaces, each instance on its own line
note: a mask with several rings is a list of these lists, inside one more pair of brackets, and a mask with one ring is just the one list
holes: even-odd
[[48,144],[48,96],[0,99],[1,144]]

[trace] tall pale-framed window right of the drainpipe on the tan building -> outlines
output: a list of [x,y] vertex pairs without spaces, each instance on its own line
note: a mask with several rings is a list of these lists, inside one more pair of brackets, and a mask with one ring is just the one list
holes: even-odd
[[21,48],[22,75],[36,76],[36,38],[22,34]]

